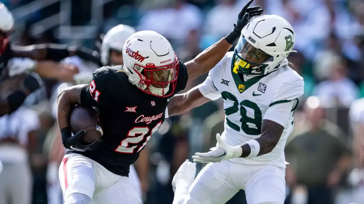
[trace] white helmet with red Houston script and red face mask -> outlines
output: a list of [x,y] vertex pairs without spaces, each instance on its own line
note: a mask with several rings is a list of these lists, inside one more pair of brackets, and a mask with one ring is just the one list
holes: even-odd
[[129,81],[142,91],[159,97],[173,94],[178,58],[161,34],[151,30],[132,34],[125,42],[123,61]]

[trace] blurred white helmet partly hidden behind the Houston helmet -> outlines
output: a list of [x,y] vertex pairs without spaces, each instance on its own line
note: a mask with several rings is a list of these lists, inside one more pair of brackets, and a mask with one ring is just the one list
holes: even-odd
[[101,44],[101,63],[104,66],[110,64],[110,49],[117,50],[120,53],[123,50],[126,39],[134,34],[134,28],[128,25],[117,25],[111,28],[103,37]]

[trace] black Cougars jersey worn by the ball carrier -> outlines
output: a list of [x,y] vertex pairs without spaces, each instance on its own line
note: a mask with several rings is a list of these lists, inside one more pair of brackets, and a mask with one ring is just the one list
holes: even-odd
[[[174,94],[185,89],[188,79],[186,66],[179,63]],[[99,111],[104,132],[102,143],[92,151],[68,152],[82,154],[114,174],[128,176],[129,166],[162,125],[173,95],[162,98],[144,93],[120,70],[122,66],[97,69],[91,84],[82,90],[82,105],[96,107]]]

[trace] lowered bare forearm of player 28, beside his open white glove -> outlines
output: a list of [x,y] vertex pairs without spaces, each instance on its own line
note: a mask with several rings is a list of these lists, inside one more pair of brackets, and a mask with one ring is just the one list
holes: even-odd
[[[255,146],[254,141],[250,144],[242,144],[240,146],[242,149],[242,154],[240,157],[245,158],[251,155],[251,153],[254,154],[254,151],[257,150],[256,148],[259,148],[259,153],[257,152],[258,154],[256,156],[268,154],[274,149],[274,147],[277,146],[283,130],[284,127],[278,123],[270,120],[263,120],[262,134],[259,138],[254,139],[259,143],[259,145]],[[253,146],[253,148],[251,146]]]

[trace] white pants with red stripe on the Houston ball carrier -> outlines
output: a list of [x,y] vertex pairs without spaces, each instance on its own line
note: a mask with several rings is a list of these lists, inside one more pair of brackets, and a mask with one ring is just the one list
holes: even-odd
[[64,200],[72,193],[81,193],[90,197],[92,204],[141,204],[128,177],[113,174],[80,154],[64,156],[59,180]]

